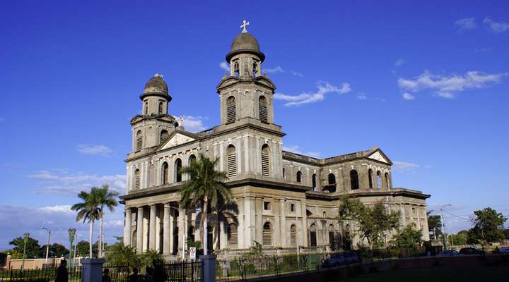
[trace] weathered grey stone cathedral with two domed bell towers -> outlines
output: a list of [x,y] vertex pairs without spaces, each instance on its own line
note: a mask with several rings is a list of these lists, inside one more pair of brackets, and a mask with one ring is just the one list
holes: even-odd
[[187,180],[180,170],[199,153],[219,159],[237,207],[233,215],[209,215],[208,245],[219,255],[238,255],[255,242],[273,254],[296,252],[297,246],[313,252],[356,244],[353,223],[337,219],[342,195],[367,205],[384,202],[401,212],[403,225],[415,223],[429,240],[430,195],[394,188],[392,161],[381,149],[325,159],[283,151],[285,133],[274,117],[276,85],[262,74],[264,59],[244,27],[226,54],[230,73],[216,86],[221,124],[199,133],[170,115],[172,97],[163,76],[148,80],[140,95],[142,114],[131,119],[132,152],[121,197],[124,243],[171,257],[182,254],[185,238],[199,240],[201,213],[179,207]]

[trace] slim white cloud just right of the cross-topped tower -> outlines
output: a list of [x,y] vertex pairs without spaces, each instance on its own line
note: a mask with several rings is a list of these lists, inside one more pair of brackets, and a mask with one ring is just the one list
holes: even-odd
[[283,101],[288,101],[288,103],[285,104],[285,106],[301,106],[303,104],[309,104],[314,103],[318,101],[322,101],[325,99],[325,94],[329,93],[337,93],[337,94],[343,94],[350,92],[350,85],[348,83],[343,83],[341,87],[337,87],[334,85],[329,84],[329,82],[317,82],[317,92],[303,92],[302,94],[298,95],[287,95],[282,93],[276,93],[274,94],[275,99],[280,99]]

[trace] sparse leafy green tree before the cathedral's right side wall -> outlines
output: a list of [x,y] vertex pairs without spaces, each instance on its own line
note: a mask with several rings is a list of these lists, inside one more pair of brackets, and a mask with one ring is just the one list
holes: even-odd
[[343,197],[339,205],[339,220],[356,223],[354,226],[361,238],[368,241],[373,258],[373,247],[382,244],[386,232],[399,227],[399,212],[387,209],[383,202],[366,207],[358,199]]

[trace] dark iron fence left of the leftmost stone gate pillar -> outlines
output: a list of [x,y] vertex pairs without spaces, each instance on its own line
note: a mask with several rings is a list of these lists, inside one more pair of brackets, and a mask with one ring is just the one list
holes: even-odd
[[[83,269],[81,266],[68,267],[68,281],[81,282]],[[44,269],[8,269],[0,271],[0,281],[52,282],[57,276],[57,268]]]

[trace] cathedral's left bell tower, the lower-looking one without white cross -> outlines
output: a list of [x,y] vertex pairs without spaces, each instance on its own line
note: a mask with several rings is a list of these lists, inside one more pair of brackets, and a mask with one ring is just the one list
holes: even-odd
[[168,114],[168,85],[163,75],[156,73],[146,82],[140,95],[141,115],[131,119],[133,127],[133,152],[157,147],[175,130],[175,118]]

